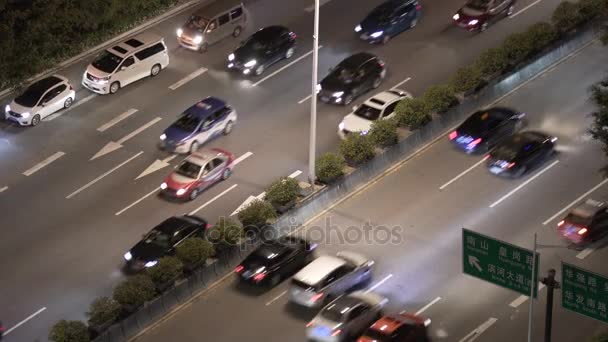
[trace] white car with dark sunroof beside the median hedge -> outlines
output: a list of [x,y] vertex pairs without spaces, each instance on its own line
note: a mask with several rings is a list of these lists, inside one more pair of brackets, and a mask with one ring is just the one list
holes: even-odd
[[351,133],[367,134],[376,120],[395,117],[395,108],[399,101],[412,98],[408,92],[391,89],[376,94],[360,106],[354,106],[353,112],[346,115],[338,124],[338,135],[342,139]]

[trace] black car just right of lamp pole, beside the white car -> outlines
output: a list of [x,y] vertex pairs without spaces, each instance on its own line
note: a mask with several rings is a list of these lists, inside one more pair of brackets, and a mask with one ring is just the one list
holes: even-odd
[[378,88],[385,76],[386,68],[380,58],[359,52],[329,70],[329,75],[317,86],[319,99],[346,106],[357,96]]

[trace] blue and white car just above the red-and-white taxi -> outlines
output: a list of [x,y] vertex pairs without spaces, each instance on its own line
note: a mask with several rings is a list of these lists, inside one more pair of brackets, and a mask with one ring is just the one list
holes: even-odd
[[186,109],[160,136],[161,148],[194,153],[214,137],[232,132],[237,113],[223,100],[209,96]]

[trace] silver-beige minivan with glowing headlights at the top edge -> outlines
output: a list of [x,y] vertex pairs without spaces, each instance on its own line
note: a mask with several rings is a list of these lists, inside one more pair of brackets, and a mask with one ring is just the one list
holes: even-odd
[[229,36],[238,37],[245,25],[245,6],[236,0],[203,7],[177,29],[177,41],[187,49],[205,52],[209,45]]

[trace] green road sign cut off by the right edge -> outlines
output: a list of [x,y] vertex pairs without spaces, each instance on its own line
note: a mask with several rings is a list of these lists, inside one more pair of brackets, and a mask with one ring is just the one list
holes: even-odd
[[608,278],[562,262],[562,307],[608,323]]

